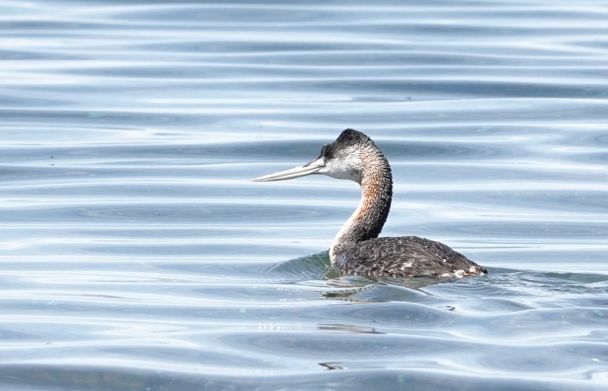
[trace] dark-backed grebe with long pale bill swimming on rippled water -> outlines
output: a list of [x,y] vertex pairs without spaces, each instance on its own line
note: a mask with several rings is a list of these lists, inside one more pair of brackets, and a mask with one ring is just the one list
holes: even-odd
[[361,185],[361,202],[334,238],[331,265],[342,275],[375,277],[465,277],[488,271],[438,241],[415,236],[379,238],[393,196],[390,165],[365,134],[347,129],[324,145],[317,159],[291,170],[255,178],[283,181],[323,174]]

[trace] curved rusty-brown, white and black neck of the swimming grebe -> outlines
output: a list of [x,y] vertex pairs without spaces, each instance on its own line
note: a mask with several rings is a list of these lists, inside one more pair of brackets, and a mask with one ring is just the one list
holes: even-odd
[[384,156],[363,170],[361,201],[331,244],[330,255],[342,246],[359,243],[380,234],[393,196],[393,178]]

